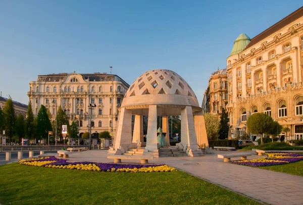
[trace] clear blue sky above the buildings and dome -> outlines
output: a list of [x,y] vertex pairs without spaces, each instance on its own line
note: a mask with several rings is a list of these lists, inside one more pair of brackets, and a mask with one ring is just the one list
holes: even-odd
[[199,104],[234,40],[296,9],[291,1],[0,1],[0,90],[27,104],[37,75],[110,72],[131,84],[155,68],[177,72]]

